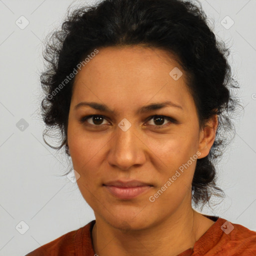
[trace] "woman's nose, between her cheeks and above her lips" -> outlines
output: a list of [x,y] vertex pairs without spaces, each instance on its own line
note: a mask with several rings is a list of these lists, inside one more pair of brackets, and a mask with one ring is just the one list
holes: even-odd
[[123,131],[117,126],[109,143],[110,149],[107,160],[110,165],[115,165],[121,170],[128,170],[133,165],[141,165],[146,161],[146,145],[131,125]]

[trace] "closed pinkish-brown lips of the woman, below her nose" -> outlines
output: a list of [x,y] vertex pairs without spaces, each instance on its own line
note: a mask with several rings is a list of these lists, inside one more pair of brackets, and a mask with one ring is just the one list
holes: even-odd
[[132,199],[149,190],[152,185],[139,180],[114,180],[106,182],[103,186],[114,196],[120,199]]

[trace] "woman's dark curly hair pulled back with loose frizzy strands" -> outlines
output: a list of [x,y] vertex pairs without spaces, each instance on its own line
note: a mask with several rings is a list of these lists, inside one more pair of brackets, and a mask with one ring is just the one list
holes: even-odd
[[[201,4],[181,0],[102,0],[94,5],[67,10],[61,29],[46,37],[43,57],[46,70],[40,81],[45,96],[41,102],[44,135],[57,131],[60,149],[67,145],[67,123],[74,78],[59,85],[88,54],[107,46],[142,45],[164,49],[175,56],[186,73],[186,84],[194,98],[200,127],[218,115],[216,138],[207,156],[197,159],[192,180],[192,199],[203,205],[212,194],[222,196],[216,186],[215,160],[231,141],[231,115],[240,105],[233,90],[239,88],[227,61],[229,49],[207,25]],[[70,156],[70,155],[69,155]],[[71,170],[71,169],[70,169]],[[70,171],[69,170],[69,171]],[[69,172],[68,172],[69,173]],[[65,173],[67,174],[67,173]],[[64,175],[65,175],[64,174]]]

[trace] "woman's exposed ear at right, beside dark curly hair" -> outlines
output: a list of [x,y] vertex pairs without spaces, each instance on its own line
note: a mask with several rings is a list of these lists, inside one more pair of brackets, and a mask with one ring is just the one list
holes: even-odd
[[208,155],[211,146],[215,140],[216,130],[218,126],[217,114],[212,115],[203,125],[199,132],[198,151],[201,152],[200,157]]

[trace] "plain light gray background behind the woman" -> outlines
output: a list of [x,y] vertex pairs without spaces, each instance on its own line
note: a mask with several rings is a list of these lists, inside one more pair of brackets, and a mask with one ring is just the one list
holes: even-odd
[[[1,256],[24,255],[94,219],[76,183],[58,176],[66,171],[68,162],[63,154],[44,144],[38,108],[39,73],[43,68],[41,40],[59,27],[69,4],[75,7],[86,2],[0,0]],[[235,122],[234,141],[218,168],[218,184],[226,198],[202,212],[256,231],[256,1],[201,3],[217,37],[231,48],[229,61],[241,85],[239,95],[245,106]],[[29,21],[24,29],[15,23],[21,23],[21,15]],[[229,29],[221,24],[230,24],[227,15],[234,21]],[[20,231],[25,224],[20,221],[29,226],[24,234]]]

